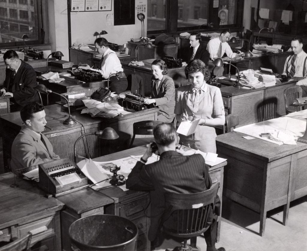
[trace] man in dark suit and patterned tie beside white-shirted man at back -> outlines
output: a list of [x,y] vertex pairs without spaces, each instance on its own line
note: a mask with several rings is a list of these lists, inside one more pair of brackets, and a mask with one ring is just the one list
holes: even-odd
[[[208,66],[210,53],[207,51],[205,47],[202,47],[200,44],[200,33],[191,33],[190,37],[190,50],[189,50],[189,56],[188,59],[190,61],[194,59],[200,59],[205,63],[205,65]],[[186,66],[186,62],[182,62],[182,66]]]

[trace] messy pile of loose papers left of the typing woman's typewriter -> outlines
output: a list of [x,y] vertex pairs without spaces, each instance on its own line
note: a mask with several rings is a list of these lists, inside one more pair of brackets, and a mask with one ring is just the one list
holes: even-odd
[[[116,96],[116,94],[111,93],[111,96]],[[84,108],[81,113],[89,113],[92,117],[103,117],[103,118],[114,118],[115,116],[122,114],[129,114],[124,110],[119,104],[112,104],[107,102],[100,102],[97,100],[82,100],[86,108]]]

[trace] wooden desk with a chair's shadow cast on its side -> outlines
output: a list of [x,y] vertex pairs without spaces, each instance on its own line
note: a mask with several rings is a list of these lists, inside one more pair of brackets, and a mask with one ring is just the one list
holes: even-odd
[[[219,80],[219,82],[229,83],[227,80]],[[222,87],[220,90],[225,114],[238,114],[238,126],[284,116],[286,115],[286,106],[283,91],[295,86],[295,83],[296,81],[289,81],[258,89]]]

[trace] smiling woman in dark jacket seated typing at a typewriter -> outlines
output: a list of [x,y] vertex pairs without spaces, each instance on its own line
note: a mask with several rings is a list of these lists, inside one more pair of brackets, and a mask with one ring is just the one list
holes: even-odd
[[166,64],[161,59],[156,59],[151,64],[151,98],[144,100],[145,104],[159,107],[161,114],[158,120],[171,123],[175,117],[175,84],[171,77],[166,76]]

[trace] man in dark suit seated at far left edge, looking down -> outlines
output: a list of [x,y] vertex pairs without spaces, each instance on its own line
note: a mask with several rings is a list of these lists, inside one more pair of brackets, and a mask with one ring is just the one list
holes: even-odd
[[40,102],[37,91],[36,73],[33,67],[21,59],[14,50],[8,50],[3,55],[6,65],[6,76],[1,91],[3,95],[11,96],[11,112],[20,111],[27,104]]

